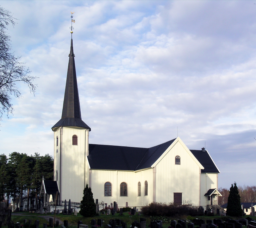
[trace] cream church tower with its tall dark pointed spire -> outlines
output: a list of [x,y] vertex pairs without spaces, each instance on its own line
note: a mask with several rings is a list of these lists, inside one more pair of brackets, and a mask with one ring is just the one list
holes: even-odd
[[83,189],[89,183],[90,127],[82,121],[76,80],[73,40],[69,53],[68,73],[61,119],[54,131],[54,180],[60,190],[60,200],[80,202]]

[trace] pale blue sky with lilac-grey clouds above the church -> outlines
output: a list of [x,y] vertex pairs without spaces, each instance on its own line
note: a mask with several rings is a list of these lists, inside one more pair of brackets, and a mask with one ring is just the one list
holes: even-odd
[[219,188],[255,185],[256,1],[1,1],[12,51],[37,77],[18,84],[0,153],[54,154],[73,46],[89,143],[206,147]]

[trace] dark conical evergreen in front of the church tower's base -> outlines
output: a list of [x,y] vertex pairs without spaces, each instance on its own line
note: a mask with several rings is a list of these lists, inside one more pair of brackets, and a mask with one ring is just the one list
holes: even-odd
[[80,214],[83,217],[93,217],[96,214],[96,204],[94,203],[92,189],[88,187],[88,184],[83,190],[80,208]]

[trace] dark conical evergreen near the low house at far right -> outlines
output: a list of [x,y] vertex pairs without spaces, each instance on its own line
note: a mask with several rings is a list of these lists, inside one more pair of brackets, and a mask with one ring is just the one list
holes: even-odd
[[229,197],[227,198],[227,215],[229,216],[242,216],[243,210],[241,207],[241,197],[236,186],[236,182],[231,184],[229,190]]

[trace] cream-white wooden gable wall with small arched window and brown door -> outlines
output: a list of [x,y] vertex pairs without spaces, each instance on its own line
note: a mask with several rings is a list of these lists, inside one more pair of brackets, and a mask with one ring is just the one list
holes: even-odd
[[[180,165],[175,165],[176,156],[180,156]],[[173,202],[173,193],[182,192],[182,200],[199,205],[199,188],[199,165],[178,141],[156,165],[156,201]]]

